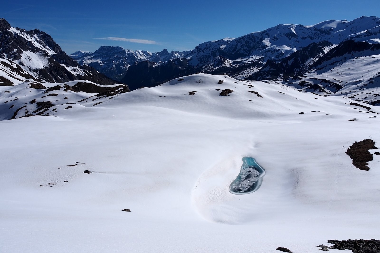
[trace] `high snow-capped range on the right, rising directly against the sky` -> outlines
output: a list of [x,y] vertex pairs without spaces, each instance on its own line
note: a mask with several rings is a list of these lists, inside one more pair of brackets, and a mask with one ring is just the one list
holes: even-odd
[[379,37],[378,17],[363,16],[352,21],[328,20],[308,26],[280,24],[239,38],[204,42],[186,57],[194,66],[219,55],[230,60],[258,55],[266,62],[269,59],[287,57],[313,42],[329,41],[332,44],[339,44],[346,39],[368,41]]

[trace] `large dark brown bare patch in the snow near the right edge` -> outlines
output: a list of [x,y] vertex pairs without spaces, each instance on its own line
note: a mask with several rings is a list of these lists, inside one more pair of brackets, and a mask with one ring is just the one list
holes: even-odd
[[373,160],[373,155],[369,152],[370,149],[378,149],[375,147],[375,142],[370,139],[365,139],[356,142],[347,149],[346,154],[352,159],[352,164],[359,170],[369,170],[367,166],[369,161]]

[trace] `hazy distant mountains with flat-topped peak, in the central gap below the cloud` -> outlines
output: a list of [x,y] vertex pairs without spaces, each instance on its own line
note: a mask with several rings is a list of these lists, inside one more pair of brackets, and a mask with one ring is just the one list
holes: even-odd
[[69,55],[79,64],[88,65],[105,74],[113,80],[121,80],[131,65],[141,61],[152,61],[155,63],[168,61],[174,58],[184,57],[189,51],[150,53],[144,50],[129,50],[122,47],[101,46],[95,52],[74,52]]

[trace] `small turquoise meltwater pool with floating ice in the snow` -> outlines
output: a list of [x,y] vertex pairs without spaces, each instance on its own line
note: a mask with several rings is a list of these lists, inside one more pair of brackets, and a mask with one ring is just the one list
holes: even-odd
[[265,170],[256,162],[253,157],[243,157],[243,165],[240,174],[230,185],[230,192],[233,194],[247,194],[255,192],[263,182]]

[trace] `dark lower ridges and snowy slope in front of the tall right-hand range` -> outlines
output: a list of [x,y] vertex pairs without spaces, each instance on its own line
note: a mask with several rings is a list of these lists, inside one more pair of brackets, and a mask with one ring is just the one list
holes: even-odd
[[247,79],[278,80],[303,91],[344,95],[380,105],[380,44],[347,40],[331,50],[325,46],[319,47],[317,54],[303,58],[304,61],[298,52],[307,47],[282,60],[268,60],[260,71]]

